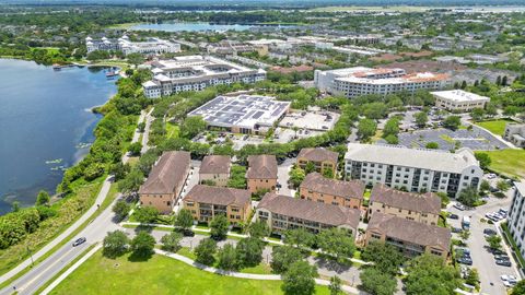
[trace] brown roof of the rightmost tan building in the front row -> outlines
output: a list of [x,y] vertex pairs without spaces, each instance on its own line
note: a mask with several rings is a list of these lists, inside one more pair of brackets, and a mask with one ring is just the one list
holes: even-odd
[[422,245],[451,247],[451,229],[374,212],[366,231],[380,232],[395,239]]

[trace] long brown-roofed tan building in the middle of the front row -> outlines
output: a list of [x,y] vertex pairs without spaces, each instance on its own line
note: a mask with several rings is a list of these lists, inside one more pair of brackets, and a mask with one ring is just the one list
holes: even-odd
[[268,223],[272,233],[305,228],[319,233],[330,227],[347,229],[354,237],[361,211],[268,192],[257,205],[257,220]]

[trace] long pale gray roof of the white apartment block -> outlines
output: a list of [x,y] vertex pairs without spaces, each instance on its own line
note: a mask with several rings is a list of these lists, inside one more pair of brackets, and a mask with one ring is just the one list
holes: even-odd
[[448,153],[396,145],[349,143],[345,158],[457,174],[469,166],[479,166],[472,151],[467,148]]

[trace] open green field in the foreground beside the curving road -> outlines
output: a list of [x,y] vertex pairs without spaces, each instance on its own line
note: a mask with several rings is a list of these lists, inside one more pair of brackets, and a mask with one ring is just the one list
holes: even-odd
[[[59,284],[51,294],[282,294],[280,281],[222,276],[164,256],[130,261],[107,259],[98,251]],[[317,286],[317,294],[329,294]]]

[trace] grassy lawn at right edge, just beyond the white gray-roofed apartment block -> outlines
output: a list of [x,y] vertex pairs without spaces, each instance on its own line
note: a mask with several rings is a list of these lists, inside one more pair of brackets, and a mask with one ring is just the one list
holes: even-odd
[[490,168],[508,176],[525,178],[525,150],[506,149],[501,151],[487,151],[492,163]]

